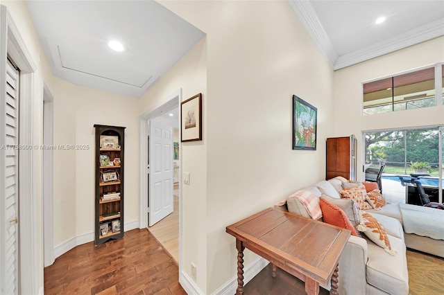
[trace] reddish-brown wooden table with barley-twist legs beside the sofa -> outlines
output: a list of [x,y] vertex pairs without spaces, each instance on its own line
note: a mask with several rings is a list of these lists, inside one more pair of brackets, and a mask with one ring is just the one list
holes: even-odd
[[350,231],[273,208],[227,226],[226,231],[236,238],[236,294],[244,294],[245,248],[273,263],[273,270],[279,267],[304,280],[307,294],[319,294],[319,285],[330,279],[330,294],[337,294],[339,255]]

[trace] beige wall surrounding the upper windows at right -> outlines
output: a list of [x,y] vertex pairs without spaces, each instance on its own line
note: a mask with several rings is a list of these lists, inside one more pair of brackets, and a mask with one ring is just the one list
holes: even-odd
[[[365,130],[444,125],[444,107],[427,107],[393,113],[361,115],[361,82],[444,61],[444,37],[432,39],[387,55],[348,66],[334,73],[334,126],[332,136],[355,134],[358,171],[363,164],[361,132]],[[358,179],[362,175],[358,174]]]

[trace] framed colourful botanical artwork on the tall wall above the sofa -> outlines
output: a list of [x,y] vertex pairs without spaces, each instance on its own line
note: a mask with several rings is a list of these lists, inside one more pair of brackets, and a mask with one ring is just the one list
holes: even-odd
[[318,109],[293,96],[293,150],[316,150]]

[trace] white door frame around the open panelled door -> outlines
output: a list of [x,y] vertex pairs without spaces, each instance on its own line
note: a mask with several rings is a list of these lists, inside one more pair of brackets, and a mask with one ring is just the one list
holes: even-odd
[[[146,163],[148,161],[147,151],[148,146],[146,142],[147,132],[149,130],[147,121],[151,118],[155,118],[162,114],[164,111],[169,111],[174,107],[179,107],[180,102],[182,102],[182,88],[178,89],[170,96],[160,101],[157,105],[145,111],[139,117],[140,129],[139,129],[139,171],[140,171],[140,194],[139,194],[139,229],[144,229],[148,227],[147,218],[147,200],[146,196],[148,194],[148,180],[146,179]],[[180,138],[180,127],[179,127],[179,138]],[[179,272],[182,269],[182,144],[179,147]]]

